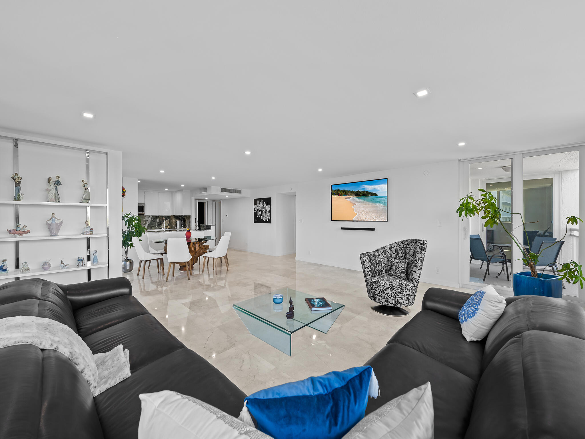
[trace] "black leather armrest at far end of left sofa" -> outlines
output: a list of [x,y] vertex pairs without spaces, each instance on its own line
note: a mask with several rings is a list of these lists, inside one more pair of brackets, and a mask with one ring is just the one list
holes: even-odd
[[132,296],[132,284],[126,277],[58,285],[67,295],[74,311],[102,300],[112,299],[112,297]]

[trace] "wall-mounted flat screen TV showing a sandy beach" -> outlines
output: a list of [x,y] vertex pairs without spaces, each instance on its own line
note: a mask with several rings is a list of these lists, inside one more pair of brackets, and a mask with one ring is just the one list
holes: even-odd
[[332,184],[331,221],[388,221],[388,179]]

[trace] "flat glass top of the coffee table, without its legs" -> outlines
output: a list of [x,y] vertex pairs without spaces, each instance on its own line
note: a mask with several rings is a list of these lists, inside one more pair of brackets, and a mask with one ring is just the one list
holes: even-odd
[[[272,296],[274,294],[283,295],[283,303],[273,303]],[[287,311],[290,306],[288,300],[292,297],[292,304],[294,305],[294,318],[291,320],[287,319]],[[316,321],[325,318],[331,314],[336,314],[335,318],[341,312],[340,308],[345,307],[341,303],[325,299],[331,304],[331,310],[326,311],[311,311],[307,306],[305,299],[307,297],[317,297],[315,294],[305,294],[301,291],[292,290],[290,288],[283,288],[280,290],[272,291],[268,294],[262,294],[261,296],[252,297],[252,299],[244,300],[240,303],[233,305],[236,311],[243,311],[250,317],[257,318],[269,322],[287,332],[295,332],[304,328],[305,326],[313,327]],[[335,321],[335,320],[333,320]],[[332,322],[333,323],[333,322]],[[332,324],[331,323],[331,324]],[[329,324],[329,326],[331,326]],[[329,328],[327,328],[329,329]],[[326,331],[322,331],[326,332]],[[290,355],[290,354],[289,354]]]

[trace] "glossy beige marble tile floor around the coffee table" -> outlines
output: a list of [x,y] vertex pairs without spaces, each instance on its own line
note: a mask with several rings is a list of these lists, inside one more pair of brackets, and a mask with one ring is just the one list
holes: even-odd
[[[178,273],[165,282],[156,266],[144,280],[126,273],[134,296],[188,348],[206,358],[247,395],[308,376],[363,365],[390,337],[421,310],[432,284],[421,283],[406,317],[371,310],[362,272],[295,260],[295,255],[267,256],[236,250],[214,273],[205,267],[187,280]],[[251,335],[232,304],[282,287],[345,304],[327,334],[303,328],[292,335],[288,356]],[[300,304],[295,304],[300,305]]]

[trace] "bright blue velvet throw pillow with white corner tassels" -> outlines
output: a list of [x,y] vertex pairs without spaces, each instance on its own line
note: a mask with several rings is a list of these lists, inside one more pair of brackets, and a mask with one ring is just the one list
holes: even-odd
[[311,376],[252,393],[239,419],[274,439],[339,439],[363,419],[379,395],[371,366]]

